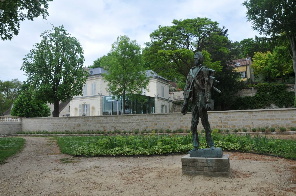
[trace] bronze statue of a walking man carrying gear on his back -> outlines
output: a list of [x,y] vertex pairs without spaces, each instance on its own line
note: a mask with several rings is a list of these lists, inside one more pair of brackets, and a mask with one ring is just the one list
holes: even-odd
[[194,54],[195,66],[187,75],[186,86],[184,89],[184,104],[182,108],[182,113],[184,115],[187,113],[189,99],[192,101],[191,131],[194,148],[191,151],[198,150],[198,146],[200,146],[197,134],[199,118],[201,119],[202,126],[205,128],[207,145],[210,146],[211,149],[215,149],[214,142],[211,138],[211,128],[208,120],[209,117],[207,115],[207,111],[213,110],[214,107],[214,102],[211,99],[211,89],[213,86],[213,81],[215,81],[213,77],[215,71],[202,66],[202,62],[202,53],[196,52]]

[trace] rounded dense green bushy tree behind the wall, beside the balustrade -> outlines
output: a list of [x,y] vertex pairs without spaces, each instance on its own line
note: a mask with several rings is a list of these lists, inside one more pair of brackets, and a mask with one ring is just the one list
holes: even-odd
[[22,117],[49,117],[50,108],[44,101],[36,99],[32,88],[22,91],[20,96],[13,102],[10,111],[12,116]]

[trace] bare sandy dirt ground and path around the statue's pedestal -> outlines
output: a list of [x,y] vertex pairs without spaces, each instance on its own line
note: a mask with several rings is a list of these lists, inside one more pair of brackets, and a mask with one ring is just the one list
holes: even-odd
[[[182,175],[181,157],[73,157],[50,137],[0,165],[0,195],[296,195],[296,161],[230,155],[231,177]],[[68,158],[63,163],[60,159]]]

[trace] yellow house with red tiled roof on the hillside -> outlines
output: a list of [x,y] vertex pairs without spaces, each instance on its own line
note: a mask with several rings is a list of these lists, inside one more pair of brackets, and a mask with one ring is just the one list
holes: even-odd
[[251,82],[254,81],[254,74],[253,69],[250,67],[252,65],[252,60],[247,54],[246,58],[236,59],[233,60],[233,63],[230,64],[230,66],[233,66],[234,69],[241,74],[241,79],[243,81],[246,81],[247,79],[250,79]]

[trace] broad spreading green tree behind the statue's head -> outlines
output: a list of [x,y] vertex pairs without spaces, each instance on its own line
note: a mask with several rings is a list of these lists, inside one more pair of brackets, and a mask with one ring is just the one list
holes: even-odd
[[149,67],[162,76],[171,78],[181,74],[186,77],[194,66],[193,56],[197,51],[204,50],[210,55],[230,53],[226,47],[229,40],[222,35],[218,22],[194,18],[173,20],[172,23],[172,26],[159,26],[152,32],[151,41],[145,43],[147,46],[143,52]]

